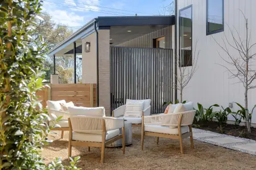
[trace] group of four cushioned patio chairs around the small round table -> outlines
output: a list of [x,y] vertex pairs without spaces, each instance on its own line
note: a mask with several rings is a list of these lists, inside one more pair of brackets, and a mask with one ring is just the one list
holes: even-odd
[[[135,125],[141,128],[141,149],[143,150],[144,136],[156,137],[156,144],[159,138],[179,139],[180,151],[183,154],[183,139],[191,137],[191,147],[193,148],[192,122],[195,117],[193,103],[170,104],[168,114],[158,114],[150,116],[151,100],[126,100],[123,105],[113,111],[113,117],[105,115],[104,107],[76,107],[72,101],[66,103],[65,100],[47,101],[49,116],[53,121],[49,126],[53,126],[52,131],[61,131],[63,139],[64,131],[69,131],[68,154],[72,156],[72,147],[83,146],[100,147],[101,163],[105,160],[105,147],[118,140],[122,140],[125,154],[125,146],[131,144],[131,127]],[[134,121],[135,120],[135,121]],[[125,126],[126,124],[126,126]],[[125,130],[125,128],[127,128]],[[125,141],[125,131],[129,133],[128,141]],[[154,142],[152,142],[153,144]],[[118,146],[118,143],[115,145]]]

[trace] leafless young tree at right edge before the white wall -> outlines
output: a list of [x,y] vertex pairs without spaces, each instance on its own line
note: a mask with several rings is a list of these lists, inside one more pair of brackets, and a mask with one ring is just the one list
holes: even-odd
[[[243,13],[242,13],[243,14]],[[249,35],[249,28],[248,28],[248,19],[243,14],[245,19],[245,39],[242,39],[241,33],[234,28],[234,31],[228,26],[230,34],[232,36],[232,42],[228,40],[226,35],[224,34],[224,38],[222,39],[224,45],[221,45],[215,39],[215,42],[220,46],[222,50],[224,50],[226,54],[226,58],[220,57],[230,65],[227,67],[225,65],[221,65],[225,67],[226,70],[230,73],[230,78],[238,79],[237,83],[242,83],[244,90],[245,90],[245,112],[246,112],[246,126],[247,131],[250,133],[250,114],[248,111],[248,91],[255,88],[256,85],[254,84],[254,80],[256,79],[256,70],[253,69],[255,65],[253,65],[255,61],[256,53],[253,53],[251,50],[256,45],[256,43],[251,44],[251,35]],[[230,47],[235,53],[231,53],[229,48]]]

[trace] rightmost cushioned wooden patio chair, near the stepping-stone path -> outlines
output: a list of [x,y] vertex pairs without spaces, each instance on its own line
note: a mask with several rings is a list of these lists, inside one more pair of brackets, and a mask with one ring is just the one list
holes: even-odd
[[179,139],[181,154],[183,154],[182,140],[190,137],[191,148],[194,148],[192,123],[195,113],[196,111],[192,110],[145,116],[142,120],[141,149],[143,150],[144,136],[156,137],[156,145],[159,144],[159,137]]

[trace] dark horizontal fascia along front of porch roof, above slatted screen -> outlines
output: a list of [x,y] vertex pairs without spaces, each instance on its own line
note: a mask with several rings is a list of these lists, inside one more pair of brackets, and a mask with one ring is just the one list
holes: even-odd
[[175,16],[99,16],[98,27],[123,25],[174,25]]

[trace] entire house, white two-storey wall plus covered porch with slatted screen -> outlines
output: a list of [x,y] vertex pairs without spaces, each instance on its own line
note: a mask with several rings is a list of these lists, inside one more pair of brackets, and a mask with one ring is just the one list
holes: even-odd
[[[95,18],[56,45],[49,55],[82,56],[82,83],[97,84],[97,103],[106,108],[107,115],[125,104],[126,99],[152,99],[152,113],[162,112],[164,101],[174,101],[174,94],[179,94],[173,86],[175,50],[172,49],[175,48],[181,66],[190,69],[194,64],[190,56],[198,58],[196,73],[183,91],[183,100],[198,102],[204,107],[212,104],[228,107],[234,101],[244,105],[245,90],[236,78],[229,78],[230,73],[226,68],[233,68],[224,61],[228,56],[221,46],[227,42],[233,43],[230,31],[238,32],[241,39],[245,39],[243,14],[248,19],[251,44],[256,42],[256,22],[253,22],[256,1],[176,2],[176,18]],[[232,46],[227,46],[227,49],[230,54],[238,55]],[[251,53],[256,53],[256,49],[252,48]],[[249,109],[256,104],[255,94],[255,89],[249,91]],[[233,103],[232,110],[237,109]],[[233,120],[231,115],[229,120]],[[254,115],[252,122],[256,123]]]

